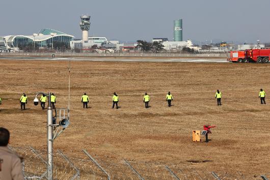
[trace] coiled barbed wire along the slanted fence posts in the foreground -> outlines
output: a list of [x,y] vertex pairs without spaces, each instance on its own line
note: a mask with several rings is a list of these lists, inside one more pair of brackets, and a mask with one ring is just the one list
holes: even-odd
[[[46,173],[47,166],[42,161],[42,159],[46,159],[47,152],[45,149],[43,150],[33,150],[30,147],[10,147],[13,151],[16,151],[20,156],[24,157],[24,175],[26,179],[30,180],[34,179],[33,177],[37,177],[39,179]],[[88,158],[78,158],[83,157],[82,155],[76,155],[76,157],[68,157],[68,159],[72,162],[72,164],[79,169],[79,175],[76,176],[76,179],[80,180],[88,180],[88,179],[106,179],[107,177],[102,173],[102,171]],[[100,165],[106,169],[106,171],[110,174],[111,179],[140,179],[137,174],[135,174],[130,167],[126,165],[124,160],[120,160],[118,162],[110,162],[109,159],[102,159],[100,157],[94,157]],[[65,180],[72,179],[74,174],[77,173],[76,169],[72,167],[63,157],[61,153],[55,151],[54,159],[53,159],[53,174],[55,180]],[[165,165],[163,163],[153,163],[153,162],[144,162],[144,161],[136,161],[133,160],[130,162],[133,168],[141,174],[144,179],[156,179],[156,180],[213,180],[217,179],[212,175],[212,172],[207,172],[201,169],[190,168],[182,165],[169,164]],[[173,172],[173,175],[170,171],[168,171],[169,167]],[[219,176],[220,179],[258,179],[256,177],[248,178],[240,171],[237,171],[236,174],[228,173],[224,168],[222,172],[215,173]],[[46,175],[46,174],[45,174]],[[268,174],[266,174],[268,175]],[[45,176],[41,179],[46,179]],[[261,179],[261,178],[259,178]]]

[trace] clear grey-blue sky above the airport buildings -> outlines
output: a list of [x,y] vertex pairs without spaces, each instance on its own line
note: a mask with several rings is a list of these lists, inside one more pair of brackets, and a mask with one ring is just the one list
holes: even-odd
[[9,0],[0,1],[0,35],[32,35],[50,28],[82,38],[79,16],[91,16],[89,36],[109,40],[173,39],[183,19],[183,40],[270,42],[269,0]]

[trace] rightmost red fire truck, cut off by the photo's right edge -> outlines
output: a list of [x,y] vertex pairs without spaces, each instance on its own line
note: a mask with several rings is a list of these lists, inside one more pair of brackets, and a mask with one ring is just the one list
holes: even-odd
[[249,62],[268,63],[270,57],[270,49],[247,49],[245,50],[245,58]]

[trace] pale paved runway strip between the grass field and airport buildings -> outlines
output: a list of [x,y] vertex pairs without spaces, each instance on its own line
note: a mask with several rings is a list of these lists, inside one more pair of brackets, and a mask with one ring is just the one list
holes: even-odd
[[104,62],[192,62],[192,63],[227,63],[226,59],[206,58],[92,58],[92,57],[70,57],[70,58],[48,58],[48,57],[0,57],[0,60],[43,60],[43,61],[104,61]]

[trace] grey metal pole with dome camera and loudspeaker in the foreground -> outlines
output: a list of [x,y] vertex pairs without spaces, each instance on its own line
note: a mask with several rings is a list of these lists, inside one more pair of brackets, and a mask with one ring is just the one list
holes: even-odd
[[[65,128],[69,125],[69,109],[68,109],[68,116],[67,118],[65,117],[65,109],[59,109],[60,111],[60,116],[57,116],[57,110],[55,109],[56,115],[52,115],[52,107],[51,107],[51,101],[50,101],[50,95],[51,93],[49,92],[48,94],[44,92],[39,92],[36,94],[34,98],[34,105],[38,105],[38,98],[37,96],[39,94],[43,94],[43,96],[48,97],[48,109],[47,109],[47,179],[48,180],[53,180],[53,140],[56,139],[64,130]],[[61,110],[64,111],[64,117],[62,119],[61,116]],[[59,124],[56,124],[56,119],[59,117],[61,120],[59,121]],[[55,123],[55,124],[53,124]],[[53,135],[53,130],[58,127],[55,135]],[[62,127],[63,129],[58,133],[59,127]]]

